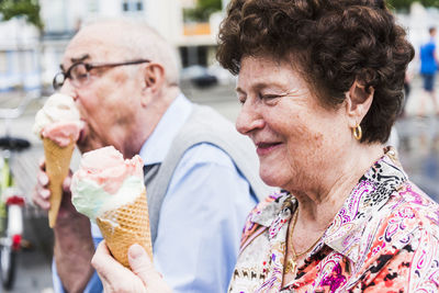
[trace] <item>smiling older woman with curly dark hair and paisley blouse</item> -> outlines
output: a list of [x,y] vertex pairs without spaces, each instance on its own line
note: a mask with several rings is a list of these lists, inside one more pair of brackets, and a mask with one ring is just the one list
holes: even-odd
[[236,126],[284,192],[248,216],[229,292],[438,292],[438,204],[383,145],[413,56],[383,1],[232,1],[217,57]]

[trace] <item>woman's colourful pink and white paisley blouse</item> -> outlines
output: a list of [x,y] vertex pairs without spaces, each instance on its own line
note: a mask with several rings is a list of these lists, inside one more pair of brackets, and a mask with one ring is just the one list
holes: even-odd
[[439,292],[439,205],[408,181],[392,148],[281,288],[296,206],[280,193],[250,213],[229,292]]

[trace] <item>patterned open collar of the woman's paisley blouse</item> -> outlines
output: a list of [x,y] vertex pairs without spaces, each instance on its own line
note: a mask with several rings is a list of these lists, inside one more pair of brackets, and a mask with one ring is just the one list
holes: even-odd
[[[317,252],[326,244],[351,261],[358,261],[359,240],[369,219],[374,212],[387,203],[392,193],[407,181],[396,150],[387,147],[384,151],[384,156],[375,161],[353,188],[311,255]],[[281,229],[279,223],[288,225],[288,219],[294,214],[296,206],[293,195],[277,194],[271,203],[258,205],[258,210],[251,215],[251,221],[269,227],[270,238],[273,238]]]

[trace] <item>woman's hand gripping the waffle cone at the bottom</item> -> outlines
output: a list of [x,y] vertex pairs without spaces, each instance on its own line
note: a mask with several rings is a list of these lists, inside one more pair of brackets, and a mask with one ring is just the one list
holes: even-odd
[[130,247],[128,261],[132,271],[110,255],[105,241],[99,244],[91,264],[101,278],[105,293],[172,292],[154,269],[151,260],[142,246],[135,244]]

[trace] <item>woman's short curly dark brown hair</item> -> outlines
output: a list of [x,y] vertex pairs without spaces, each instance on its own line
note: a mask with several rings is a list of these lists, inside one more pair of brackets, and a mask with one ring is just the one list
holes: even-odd
[[293,58],[320,102],[334,108],[356,80],[373,88],[361,142],[385,143],[414,56],[405,35],[383,0],[233,0],[217,59],[237,75],[243,56]]

